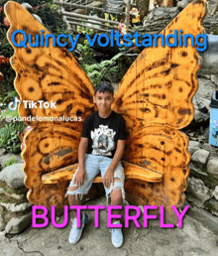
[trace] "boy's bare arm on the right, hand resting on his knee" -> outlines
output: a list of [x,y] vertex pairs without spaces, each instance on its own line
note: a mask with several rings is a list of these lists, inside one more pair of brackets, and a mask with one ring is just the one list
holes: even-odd
[[104,179],[102,180],[102,182],[104,183],[104,185],[107,189],[110,188],[111,183],[112,183],[112,185],[114,185],[114,171],[115,171],[119,161],[123,157],[124,148],[125,148],[125,140],[118,140],[117,149],[115,151],[113,160],[104,176]]

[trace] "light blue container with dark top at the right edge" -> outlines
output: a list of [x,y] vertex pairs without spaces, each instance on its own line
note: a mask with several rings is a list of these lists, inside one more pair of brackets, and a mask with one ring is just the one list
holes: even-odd
[[209,143],[218,147],[218,90],[214,90],[212,94],[210,107]]

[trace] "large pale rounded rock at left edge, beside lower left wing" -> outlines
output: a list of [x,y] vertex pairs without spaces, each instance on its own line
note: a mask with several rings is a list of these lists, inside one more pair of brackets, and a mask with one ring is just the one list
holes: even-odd
[[15,164],[6,167],[0,173],[0,181],[5,181],[7,185],[14,189],[24,187],[25,173],[22,170],[23,164]]

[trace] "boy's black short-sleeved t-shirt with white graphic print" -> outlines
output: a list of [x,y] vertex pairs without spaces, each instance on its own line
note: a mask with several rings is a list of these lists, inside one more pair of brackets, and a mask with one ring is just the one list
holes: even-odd
[[117,141],[127,137],[125,120],[114,111],[107,118],[96,111],[85,118],[81,137],[88,138],[88,154],[113,158]]

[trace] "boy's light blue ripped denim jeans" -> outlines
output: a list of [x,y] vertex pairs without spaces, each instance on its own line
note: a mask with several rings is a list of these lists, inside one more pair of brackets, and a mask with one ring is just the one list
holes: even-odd
[[[104,157],[104,156],[95,156],[92,154],[86,154],[85,156],[85,173],[87,176],[87,181],[83,180],[83,185],[79,187],[76,191],[70,192],[69,187],[77,187],[77,185],[74,183],[75,175],[78,172],[78,168],[75,171],[75,174],[69,184],[69,187],[66,191],[65,196],[68,194],[80,194],[80,199],[82,198],[83,194],[87,194],[91,188],[92,182],[94,178],[101,173],[101,177],[104,178],[110,164],[112,162],[111,158]],[[109,189],[107,189],[104,186],[104,190],[106,192],[107,197],[107,204],[108,204],[108,196],[114,189],[119,189],[122,192],[122,198],[123,201],[125,201],[125,192],[124,192],[124,168],[121,164],[121,162],[118,163],[115,171],[114,171],[114,179],[117,178],[119,181],[114,182],[114,186],[110,186]]]

